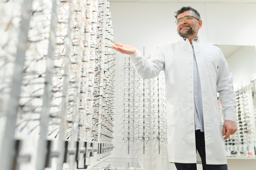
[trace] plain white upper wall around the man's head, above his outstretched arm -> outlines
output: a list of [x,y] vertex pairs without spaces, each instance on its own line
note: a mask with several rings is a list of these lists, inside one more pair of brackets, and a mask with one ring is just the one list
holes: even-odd
[[[211,44],[256,45],[256,3],[150,3],[110,2],[115,41],[136,46],[146,55],[157,46],[176,42],[174,12],[191,6],[203,21],[200,40]],[[232,16],[232,17],[231,17]]]

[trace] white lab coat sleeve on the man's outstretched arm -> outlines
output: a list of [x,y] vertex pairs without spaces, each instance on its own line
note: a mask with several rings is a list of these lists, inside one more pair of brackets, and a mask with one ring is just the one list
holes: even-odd
[[156,77],[160,71],[164,70],[164,53],[161,47],[157,49],[150,59],[145,58],[138,50],[134,54],[129,55],[129,57],[133,67],[144,79]]

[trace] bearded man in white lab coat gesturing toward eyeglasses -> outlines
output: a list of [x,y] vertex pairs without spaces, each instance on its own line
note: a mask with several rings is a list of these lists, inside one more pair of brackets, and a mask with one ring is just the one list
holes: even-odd
[[[227,170],[224,139],[236,132],[236,95],[231,71],[218,47],[199,42],[202,20],[198,11],[176,12],[179,42],[158,48],[145,59],[137,49],[116,42],[112,48],[129,54],[139,75],[155,77],[164,70],[168,159],[177,170],[196,170],[196,150],[203,170]],[[224,124],[217,102],[219,93]]]

